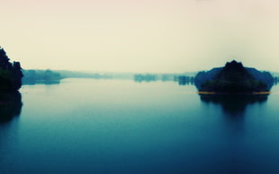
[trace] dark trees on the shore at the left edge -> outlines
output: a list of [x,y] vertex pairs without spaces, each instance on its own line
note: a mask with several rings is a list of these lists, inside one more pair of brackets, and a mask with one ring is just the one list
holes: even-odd
[[22,67],[19,62],[10,62],[4,48],[0,47],[0,91],[17,91],[22,87]]

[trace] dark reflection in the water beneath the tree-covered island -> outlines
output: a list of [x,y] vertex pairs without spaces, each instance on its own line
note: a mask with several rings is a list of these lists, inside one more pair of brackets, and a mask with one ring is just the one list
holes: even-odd
[[200,94],[201,100],[206,103],[220,105],[226,114],[236,116],[244,113],[247,105],[263,103],[267,100],[267,94],[250,95],[250,94]]

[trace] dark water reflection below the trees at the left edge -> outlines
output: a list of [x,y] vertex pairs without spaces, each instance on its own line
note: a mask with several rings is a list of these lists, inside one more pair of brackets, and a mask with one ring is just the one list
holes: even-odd
[[22,107],[22,94],[19,91],[0,93],[0,124],[21,115]]

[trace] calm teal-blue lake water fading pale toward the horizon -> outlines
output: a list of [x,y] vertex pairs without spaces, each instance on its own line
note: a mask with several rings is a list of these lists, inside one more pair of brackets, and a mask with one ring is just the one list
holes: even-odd
[[1,173],[279,173],[279,86],[267,97],[195,91],[128,80],[23,85],[0,104]]

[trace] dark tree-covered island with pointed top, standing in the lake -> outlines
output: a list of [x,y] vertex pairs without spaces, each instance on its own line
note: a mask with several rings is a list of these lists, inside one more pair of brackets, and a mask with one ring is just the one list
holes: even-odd
[[200,93],[265,93],[270,91],[273,83],[274,78],[270,73],[244,67],[235,60],[224,67],[200,72],[194,78]]

